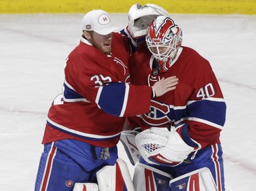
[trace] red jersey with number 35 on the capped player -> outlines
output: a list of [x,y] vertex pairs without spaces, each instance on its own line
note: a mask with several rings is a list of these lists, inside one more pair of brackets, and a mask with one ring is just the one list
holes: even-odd
[[113,33],[107,56],[81,38],[68,56],[63,94],[48,111],[42,143],[77,139],[112,147],[119,141],[124,116],[149,111],[152,88],[128,83],[130,48],[127,38]]

